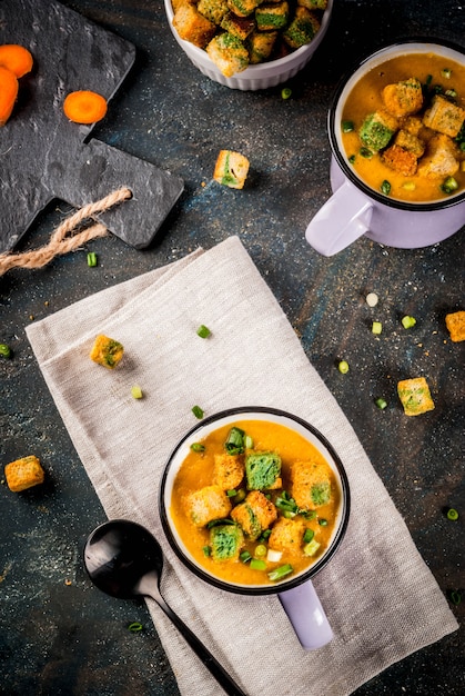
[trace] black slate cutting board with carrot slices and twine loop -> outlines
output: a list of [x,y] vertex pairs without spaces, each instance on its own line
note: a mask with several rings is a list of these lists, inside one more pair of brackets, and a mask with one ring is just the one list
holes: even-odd
[[111,99],[134,62],[134,47],[53,0],[0,0],[0,43],[19,43],[34,59],[0,128],[0,252],[11,250],[53,199],[79,208],[123,186],[133,198],[99,219],[127,243],[146,247],[182,180],[98,140],[87,142],[93,126],[71,123],[62,110],[64,97],[79,89]]

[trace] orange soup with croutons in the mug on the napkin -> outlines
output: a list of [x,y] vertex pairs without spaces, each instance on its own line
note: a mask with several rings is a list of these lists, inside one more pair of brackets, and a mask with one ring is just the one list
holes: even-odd
[[340,500],[334,471],[309,440],[282,425],[243,420],[191,446],[173,484],[170,515],[210,574],[269,585],[324,554]]

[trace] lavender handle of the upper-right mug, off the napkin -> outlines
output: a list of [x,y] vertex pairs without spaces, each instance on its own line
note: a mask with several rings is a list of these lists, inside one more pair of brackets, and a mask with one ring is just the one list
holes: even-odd
[[372,201],[345,180],[311,220],[305,238],[323,256],[333,256],[368,231],[372,212]]

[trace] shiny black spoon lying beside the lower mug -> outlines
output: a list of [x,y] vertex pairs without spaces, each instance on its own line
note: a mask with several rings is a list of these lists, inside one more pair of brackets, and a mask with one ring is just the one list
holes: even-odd
[[163,551],[148,529],[127,519],[97,527],[84,547],[84,566],[94,585],[108,595],[152,597],[230,696],[246,696],[195,634],[174,614],[160,593]]

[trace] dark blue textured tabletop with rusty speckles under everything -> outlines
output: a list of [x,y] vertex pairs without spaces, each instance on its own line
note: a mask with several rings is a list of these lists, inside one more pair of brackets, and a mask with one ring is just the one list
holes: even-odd
[[[465,342],[451,342],[444,316],[465,309],[465,229],[412,251],[361,239],[331,259],[304,240],[306,223],[330,193],[326,112],[347,64],[400,36],[463,42],[463,4],[337,0],[324,44],[292,80],[286,101],[281,88],[236,92],[201,76],[175,44],[161,2],[64,4],[137,47],[134,68],[93,136],[170,170],[186,186],[145,251],[109,237],[90,246],[97,268],[87,266],[82,249],[43,270],[0,278],[0,342],[13,350],[11,360],[0,360],[0,461],[36,453],[48,470],[43,487],[20,496],[0,487],[0,693],[178,694],[143,606],[105,597],[84,576],[82,546],[104,515],[24,326],[230,235],[242,239],[351,420],[441,588],[464,590]],[[250,158],[243,191],[212,181],[221,148]],[[44,243],[69,206],[60,209],[41,216],[20,248]],[[364,300],[372,290],[380,296],[375,309]],[[400,325],[404,314],[417,319],[408,332]],[[373,319],[383,322],[378,338],[371,332]],[[350,362],[347,375],[335,368],[341,358]],[[436,408],[406,418],[395,385],[419,375]],[[385,411],[373,404],[378,396],[388,401]],[[457,523],[443,514],[451,505],[461,511]],[[464,607],[465,600],[453,607],[462,624]],[[144,624],[142,634],[127,630],[132,620]],[[463,696],[464,646],[461,627],[393,665],[356,696]]]

